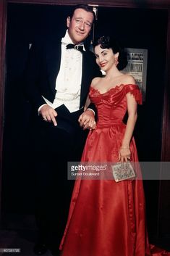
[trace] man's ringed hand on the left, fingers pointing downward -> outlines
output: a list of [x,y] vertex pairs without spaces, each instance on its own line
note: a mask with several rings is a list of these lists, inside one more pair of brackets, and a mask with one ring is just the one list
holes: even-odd
[[53,122],[54,126],[57,125],[56,123],[57,112],[52,107],[48,106],[48,104],[45,104],[43,105],[43,107],[41,107],[40,114],[43,117],[43,120],[45,120],[46,122],[49,122],[49,123]]

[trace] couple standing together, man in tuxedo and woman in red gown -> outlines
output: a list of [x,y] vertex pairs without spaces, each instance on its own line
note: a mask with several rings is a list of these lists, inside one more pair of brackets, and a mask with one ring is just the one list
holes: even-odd
[[67,162],[138,161],[132,133],[141,94],[134,78],[119,71],[122,49],[116,41],[102,36],[94,54],[85,49],[94,19],[91,7],[79,5],[67,17],[62,38],[30,49],[25,91],[38,112],[34,252],[149,256],[141,179],[67,180]]

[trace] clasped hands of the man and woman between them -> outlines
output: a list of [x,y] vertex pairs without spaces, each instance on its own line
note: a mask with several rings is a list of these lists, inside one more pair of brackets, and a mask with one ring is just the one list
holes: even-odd
[[92,110],[85,110],[78,119],[80,126],[85,129],[95,129],[95,116]]

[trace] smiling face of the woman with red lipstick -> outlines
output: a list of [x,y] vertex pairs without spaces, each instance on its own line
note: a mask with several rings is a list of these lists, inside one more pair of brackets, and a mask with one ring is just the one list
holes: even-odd
[[96,63],[103,71],[108,71],[111,67],[115,66],[115,58],[118,57],[118,53],[114,54],[111,48],[102,49],[100,45],[95,46],[95,58]]

